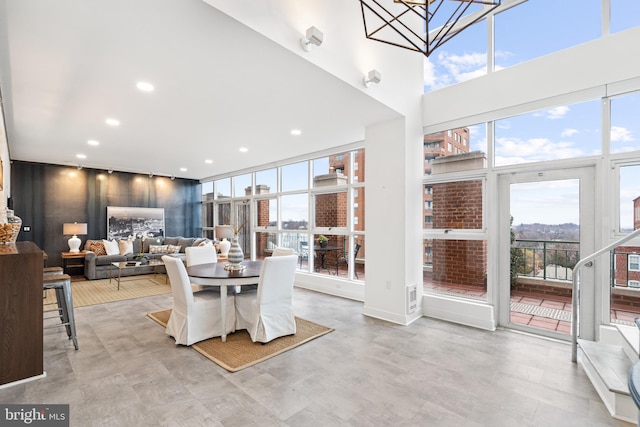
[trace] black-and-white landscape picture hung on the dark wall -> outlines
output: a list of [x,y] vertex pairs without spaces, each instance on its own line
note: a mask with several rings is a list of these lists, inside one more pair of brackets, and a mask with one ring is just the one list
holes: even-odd
[[107,238],[164,237],[164,208],[107,206]]

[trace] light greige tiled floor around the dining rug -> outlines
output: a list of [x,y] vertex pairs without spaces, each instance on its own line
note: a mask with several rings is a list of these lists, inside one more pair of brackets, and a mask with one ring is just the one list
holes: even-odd
[[[612,419],[569,346],[296,289],[298,316],[335,331],[229,373],[145,316],[161,295],[75,309],[80,350],[45,330],[47,377],[2,403],[69,403],[72,426],[631,426]],[[16,355],[19,357],[19,355]]]

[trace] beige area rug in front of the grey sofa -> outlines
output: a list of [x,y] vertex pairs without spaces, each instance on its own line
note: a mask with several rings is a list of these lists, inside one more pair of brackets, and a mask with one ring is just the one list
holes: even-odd
[[[103,304],[106,302],[124,301],[133,298],[148,297],[152,295],[168,294],[171,292],[171,285],[166,282],[165,276],[158,274],[147,274],[140,276],[129,276],[118,282],[112,279],[82,280],[71,282],[71,295],[73,296],[73,306],[83,307],[86,305]],[[56,301],[56,294],[53,289],[46,291],[43,299],[44,310],[54,310],[55,305],[48,305]]]

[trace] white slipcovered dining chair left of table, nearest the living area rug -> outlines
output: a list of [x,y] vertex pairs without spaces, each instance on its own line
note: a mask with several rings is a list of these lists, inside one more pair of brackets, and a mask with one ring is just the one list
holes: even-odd
[[[167,322],[166,333],[176,344],[191,345],[222,335],[220,294],[193,292],[187,269],[181,259],[162,257],[173,293],[173,310]],[[234,296],[227,295],[227,330],[235,332]]]

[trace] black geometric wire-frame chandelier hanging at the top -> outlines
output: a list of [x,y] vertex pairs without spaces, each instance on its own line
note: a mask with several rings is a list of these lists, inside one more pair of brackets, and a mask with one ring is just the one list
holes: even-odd
[[360,0],[368,39],[427,57],[500,3],[501,0]]

